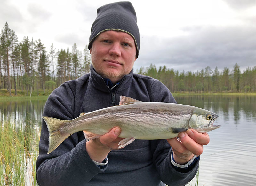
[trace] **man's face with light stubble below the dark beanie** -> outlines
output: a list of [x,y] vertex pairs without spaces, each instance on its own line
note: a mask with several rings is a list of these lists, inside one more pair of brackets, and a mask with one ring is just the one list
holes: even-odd
[[95,71],[113,83],[129,74],[136,60],[136,46],[132,36],[112,30],[97,36],[90,53]]

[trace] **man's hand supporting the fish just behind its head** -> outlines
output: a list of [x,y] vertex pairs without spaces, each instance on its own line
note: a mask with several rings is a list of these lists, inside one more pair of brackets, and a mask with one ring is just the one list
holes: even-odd
[[203,153],[203,145],[207,145],[210,138],[207,133],[199,133],[196,130],[188,129],[179,134],[180,141],[177,138],[167,139],[172,146],[174,161],[180,165],[186,164],[194,155]]

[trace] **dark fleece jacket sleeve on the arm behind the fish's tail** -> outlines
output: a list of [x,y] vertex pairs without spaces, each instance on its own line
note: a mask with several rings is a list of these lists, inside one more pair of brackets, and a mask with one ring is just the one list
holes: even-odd
[[[55,89],[46,101],[44,116],[62,120],[74,118],[74,94],[68,83]],[[36,161],[36,179],[39,186],[84,185],[103,172],[86,152],[86,140],[78,141],[77,133],[69,136],[54,151],[48,151],[48,129],[42,122],[39,156]]]

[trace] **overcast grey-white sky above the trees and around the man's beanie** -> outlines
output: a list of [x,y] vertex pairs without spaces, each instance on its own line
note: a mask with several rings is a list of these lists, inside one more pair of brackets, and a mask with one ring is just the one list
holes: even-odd
[[[83,50],[97,8],[108,0],[0,0],[0,28],[7,21],[19,41],[41,39],[50,50]],[[256,0],[131,1],[140,29],[134,70],[150,63],[187,72],[235,63],[256,66]]]

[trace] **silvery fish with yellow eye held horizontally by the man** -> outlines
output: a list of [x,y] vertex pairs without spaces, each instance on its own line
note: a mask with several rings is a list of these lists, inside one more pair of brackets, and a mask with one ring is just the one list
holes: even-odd
[[120,127],[121,133],[118,137],[125,139],[119,142],[118,148],[123,148],[134,139],[169,139],[190,128],[200,133],[209,132],[220,127],[213,125],[218,117],[213,112],[195,106],[142,102],[120,96],[119,105],[81,113],[72,120],[48,116],[42,118],[49,131],[49,154],[68,136],[78,131],[83,131],[88,141],[108,133],[114,127]]

